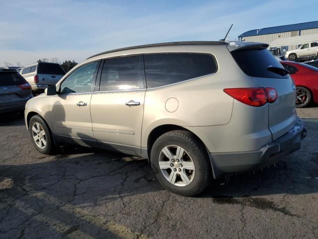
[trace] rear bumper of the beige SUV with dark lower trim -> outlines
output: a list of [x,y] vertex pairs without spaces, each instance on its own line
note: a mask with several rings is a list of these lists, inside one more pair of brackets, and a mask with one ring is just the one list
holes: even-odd
[[307,130],[301,119],[298,119],[293,129],[268,143],[256,151],[211,153],[215,178],[224,174],[255,171],[275,162],[288,154],[300,149],[301,141],[306,137]]

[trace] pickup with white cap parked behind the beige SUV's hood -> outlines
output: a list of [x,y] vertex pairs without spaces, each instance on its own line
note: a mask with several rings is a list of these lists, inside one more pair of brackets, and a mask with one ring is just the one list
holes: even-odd
[[32,91],[39,94],[55,85],[65,75],[65,71],[57,63],[39,62],[25,66],[20,74],[29,82]]

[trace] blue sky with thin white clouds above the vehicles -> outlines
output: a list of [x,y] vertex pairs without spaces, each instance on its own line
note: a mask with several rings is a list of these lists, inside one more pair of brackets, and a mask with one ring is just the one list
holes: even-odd
[[0,0],[0,66],[84,60],[114,48],[229,39],[256,28],[318,20],[317,0]]

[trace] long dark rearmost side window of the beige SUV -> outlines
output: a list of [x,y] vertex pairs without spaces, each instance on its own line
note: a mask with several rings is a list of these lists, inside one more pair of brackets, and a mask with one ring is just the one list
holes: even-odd
[[217,64],[208,54],[146,54],[145,71],[147,87],[152,88],[215,73]]

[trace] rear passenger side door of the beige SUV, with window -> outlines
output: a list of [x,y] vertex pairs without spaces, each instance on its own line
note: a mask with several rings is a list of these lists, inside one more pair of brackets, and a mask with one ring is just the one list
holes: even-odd
[[145,77],[143,55],[105,59],[90,103],[97,143],[129,154],[141,152]]

